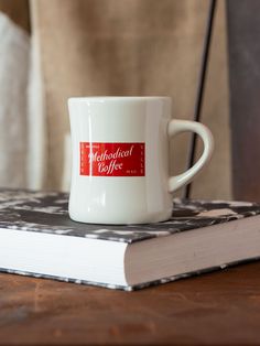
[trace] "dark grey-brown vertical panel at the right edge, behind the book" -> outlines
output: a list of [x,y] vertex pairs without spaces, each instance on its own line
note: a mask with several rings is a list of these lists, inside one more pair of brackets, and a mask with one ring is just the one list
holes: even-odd
[[234,196],[260,201],[260,1],[227,0]]

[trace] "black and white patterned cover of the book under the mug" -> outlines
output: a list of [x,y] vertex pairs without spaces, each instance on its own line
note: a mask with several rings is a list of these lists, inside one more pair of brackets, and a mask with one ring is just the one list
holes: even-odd
[[[247,202],[225,201],[173,201],[171,219],[147,225],[97,225],[73,221],[67,210],[68,194],[57,192],[31,192],[17,190],[0,190],[0,229],[12,231],[35,231],[64,236],[85,237],[132,244],[145,239],[170,236],[175,233],[188,231],[195,228],[228,223],[260,214],[260,205]],[[1,270],[1,269],[0,269]],[[8,271],[3,269],[2,271]],[[10,270],[9,272],[22,272]],[[30,273],[23,273],[30,274]],[[138,286],[110,286],[115,289],[133,290],[176,280],[195,273],[165,278]],[[45,277],[32,274],[34,277]],[[74,281],[68,278],[55,278]],[[90,283],[80,281],[77,283]]]

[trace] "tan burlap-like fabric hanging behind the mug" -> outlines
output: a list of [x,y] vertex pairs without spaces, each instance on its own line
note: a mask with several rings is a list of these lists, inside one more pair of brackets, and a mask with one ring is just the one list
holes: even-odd
[[[45,101],[43,187],[67,188],[66,99],[90,95],[170,95],[173,115],[192,119],[208,1],[31,0]],[[193,196],[230,197],[226,23],[218,2],[203,121],[216,151]],[[188,137],[173,141],[172,173],[184,170]]]

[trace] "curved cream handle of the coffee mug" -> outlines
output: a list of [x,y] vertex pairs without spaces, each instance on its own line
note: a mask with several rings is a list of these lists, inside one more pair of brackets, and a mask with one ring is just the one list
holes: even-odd
[[173,119],[169,122],[167,134],[169,137],[174,137],[178,133],[192,131],[197,133],[204,144],[204,151],[198,161],[187,171],[182,174],[171,176],[169,179],[169,191],[173,193],[177,188],[188,184],[195,175],[203,169],[203,166],[209,161],[213,149],[214,149],[214,139],[212,132],[201,122],[191,121],[191,120],[176,120]]

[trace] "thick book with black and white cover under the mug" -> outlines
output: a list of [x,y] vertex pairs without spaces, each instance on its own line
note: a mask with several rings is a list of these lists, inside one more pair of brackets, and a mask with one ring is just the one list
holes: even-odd
[[68,195],[0,190],[0,271],[132,291],[260,257],[260,205],[173,201],[147,225],[69,219]]

